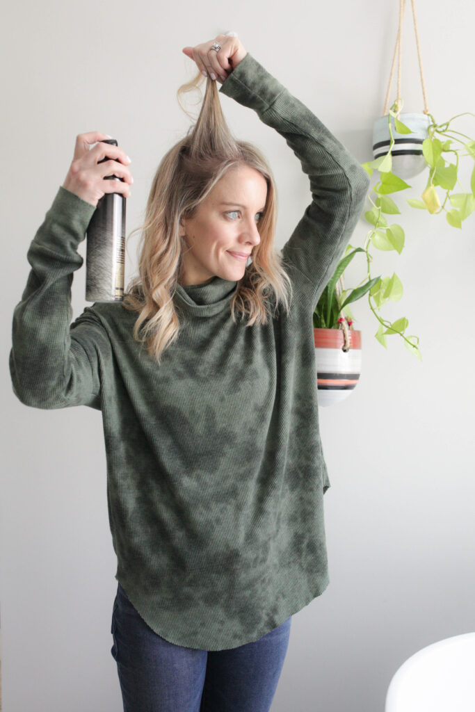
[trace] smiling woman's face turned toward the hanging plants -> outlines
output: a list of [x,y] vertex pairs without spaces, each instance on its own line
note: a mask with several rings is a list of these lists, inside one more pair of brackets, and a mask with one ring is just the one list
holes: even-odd
[[180,222],[180,235],[188,244],[182,285],[202,284],[214,276],[232,282],[244,277],[249,255],[261,241],[257,225],[266,197],[266,179],[256,169],[244,164],[224,174],[194,216]]

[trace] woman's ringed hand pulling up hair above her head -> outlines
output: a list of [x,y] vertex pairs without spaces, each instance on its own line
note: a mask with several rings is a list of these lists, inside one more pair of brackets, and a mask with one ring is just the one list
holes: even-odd
[[[215,42],[221,45],[217,52],[212,49]],[[182,52],[197,63],[205,76],[209,75],[212,80],[217,78],[221,84],[247,54],[239,39],[231,35],[218,35],[214,40],[203,42],[196,47],[184,47]]]

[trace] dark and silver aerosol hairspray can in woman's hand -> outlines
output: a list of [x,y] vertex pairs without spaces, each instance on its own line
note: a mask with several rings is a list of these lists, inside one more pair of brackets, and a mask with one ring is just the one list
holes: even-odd
[[[102,143],[117,146],[115,139]],[[103,158],[99,163],[110,160]],[[115,159],[118,161],[118,159]],[[104,180],[120,180],[115,175]],[[105,193],[90,220],[85,258],[85,298],[88,302],[116,302],[124,298],[125,197]]]

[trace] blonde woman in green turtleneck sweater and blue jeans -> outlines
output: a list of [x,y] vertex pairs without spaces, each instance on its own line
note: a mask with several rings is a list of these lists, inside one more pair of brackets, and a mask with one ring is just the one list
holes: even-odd
[[[132,183],[121,148],[80,135],[28,251],[11,377],[25,404],[103,412],[125,711],[260,712],[292,614],[328,585],[313,312],[369,179],[239,38],[183,51],[207,90],[155,175],[139,276],[123,303],[70,323],[78,244],[98,199]],[[216,81],[285,138],[310,179],[281,252],[271,169],[229,132]],[[119,162],[98,164],[105,156]],[[124,182],[104,181],[111,172]]]

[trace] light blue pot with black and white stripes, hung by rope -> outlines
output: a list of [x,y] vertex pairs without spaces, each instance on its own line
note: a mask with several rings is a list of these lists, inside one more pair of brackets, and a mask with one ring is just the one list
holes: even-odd
[[[387,154],[391,136],[387,125],[387,116],[375,120],[372,130],[372,155],[375,158]],[[431,118],[427,114],[400,114],[399,120],[411,129],[410,134],[400,134],[396,131],[394,116],[391,116],[392,135],[395,142],[392,146],[392,172],[400,178],[411,178],[422,173],[427,167],[422,154],[422,142],[429,136],[428,127]]]

